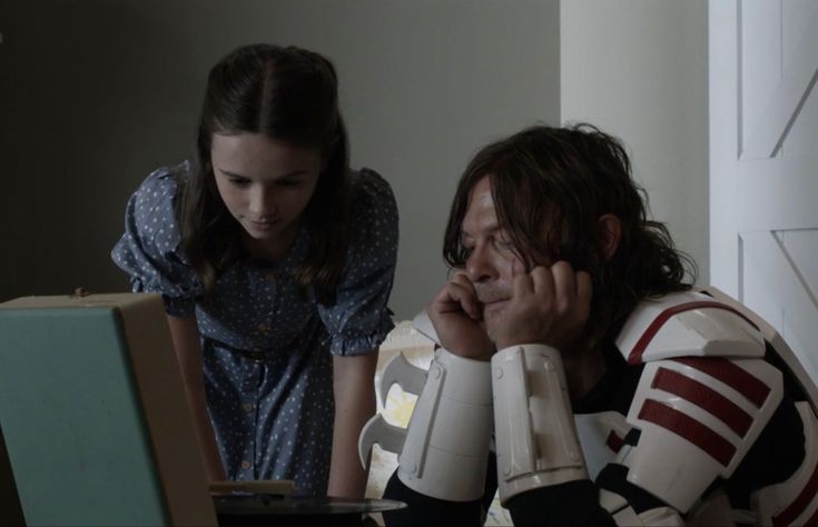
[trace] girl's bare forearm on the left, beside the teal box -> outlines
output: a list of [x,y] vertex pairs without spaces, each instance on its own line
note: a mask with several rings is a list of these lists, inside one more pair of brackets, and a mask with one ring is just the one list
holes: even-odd
[[210,425],[210,419],[207,416],[201,347],[199,345],[199,330],[196,327],[196,316],[185,318],[168,316],[168,325],[170,337],[174,340],[176,358],[181,369],[185,394],[194,417],[196,437],[199,441],[199,451],[205,461],[207,477],[210,481],[224,480],[226,479],[225,469],[216,448],[213,425]]

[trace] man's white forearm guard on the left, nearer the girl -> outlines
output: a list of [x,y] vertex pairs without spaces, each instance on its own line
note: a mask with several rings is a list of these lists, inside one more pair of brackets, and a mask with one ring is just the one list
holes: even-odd
[[428,368],[398,456],[397,477],[438,499],[483,495],[492,432],[491,364],[441,348]]

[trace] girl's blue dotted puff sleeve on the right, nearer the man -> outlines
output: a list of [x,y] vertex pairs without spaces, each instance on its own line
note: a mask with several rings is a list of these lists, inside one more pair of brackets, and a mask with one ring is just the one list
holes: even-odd
[[397,205],[390,183],[362,169],[353,180],[352,245],[332,307],[318,305],[333,355],[363,355],[394,328],[386,302],[397,259]]

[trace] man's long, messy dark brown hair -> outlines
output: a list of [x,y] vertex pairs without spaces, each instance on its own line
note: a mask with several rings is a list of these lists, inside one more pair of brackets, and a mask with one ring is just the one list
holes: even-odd
[[[521,260],[569,261],[593,280],[584,344],[613,337],[639,301],[690,289],[696,264],[673,247],[667,227],[648,219],[648,197],[631,178],[622,143],[591,125],[536,126],[481,149],[452,203],[443,256],[462,268],[461,226],[472,188],[491,181],[497,220]],[[622,235],[605,260],[598,219],[614,215]],[[689,274],[691,282],[686,282]]]

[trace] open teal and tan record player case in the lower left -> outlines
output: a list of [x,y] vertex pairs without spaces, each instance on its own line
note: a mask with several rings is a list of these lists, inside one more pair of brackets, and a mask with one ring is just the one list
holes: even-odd
[[170,525],[183,518],[168,493],[197,476],[211,508],[200,459],[188,459],[199,468],[189,475],[171,459],[185,448],[168,434],[185,431],[197,453],[193,428],[161,422],[168,387],[179,400],[167,409],[186,411],[169,342],[157,296],[0,305],[0,427],[28,525]]

